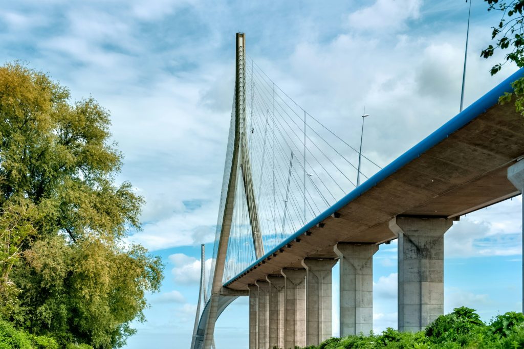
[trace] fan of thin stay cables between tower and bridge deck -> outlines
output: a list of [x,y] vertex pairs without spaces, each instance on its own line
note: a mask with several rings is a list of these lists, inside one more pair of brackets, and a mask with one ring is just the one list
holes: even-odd
[[[265,252],[274,249],[353,190],[358,171],[358,147],[350,143],[358,143],[359,139],[344,140],[300,107],[248,55],[244,59],[241,97],[245,134],[241,137],[245,137],[250,168],[231,160],[235,137],[232,125],[226,170],[228,164],[238,166],[238,175],[223,282],[257,260],[255,234],[259,234]],[[359,130],[360,122],[356,119],[353,127]],[[364,155],[362,164],[368,172],[361,171],[364,179],[381,168]],[[243,181],[247,170],[254,190],[254,202],[250,205],[246,199],[248,187]],[[250,223],[249,206],[256,207],[259,232]],[[220,216],[218,224],[222,226]]]

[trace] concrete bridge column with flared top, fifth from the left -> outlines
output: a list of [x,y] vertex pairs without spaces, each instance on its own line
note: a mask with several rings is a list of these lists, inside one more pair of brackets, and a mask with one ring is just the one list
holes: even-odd
[[319,345],[332,336],[331,328],[331,269],[336,261],[306,258],[305,278],[305,344]]

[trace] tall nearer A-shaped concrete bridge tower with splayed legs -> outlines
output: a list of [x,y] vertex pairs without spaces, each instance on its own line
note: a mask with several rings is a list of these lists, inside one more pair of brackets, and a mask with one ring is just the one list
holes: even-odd
[[[236,205],[244,204],[247,209],[248,226],[252,236],[252,246],[256,259],[264,255],[264,245],[260,234],[260,224],[258,219],[257,201],[255,199],[255,189],[252,178],[252,168],[249,160],[248,130],[246,120],[246,59],[245,59],[245,36],[244,33],[236,35],[236,79],[235,95],[232,120],[230,125],[230,138],[227,146],[226,164],[224,168],[224,179],[222,187],[222,197],[220,201],[219,220],[217,222],[217,241],[215,241],[213,273],[211,277],[211,295],[209,302],[205,301],[206,306],[202,314],[200,324],[193,334],[192,347],[211,348],[213,343],[213,332],[215,321],[220,313],[235,298],[236,293],[222,287],[224,269],[228,251],[233,216],[235,212],[235,201],[241,193],[243,202],[236,202]],[[236,199],[236,200],[235,200]],[[239,210],[237,210],[239,211]],[[248,247],[246,247],[248,248]],[[202,260],[202,263],[204,261]],[[203,277],[203,273],[202,276]],[[201,294],[205,289],[201,287]],[[242,294],[242,292],[237,292]],[[244,292],[245,293],[245,292]],[[204,299],[207,297],[204,297]],[[199,300],[200,306],[200,300]],[[200,311],[198,311],[197,317]]]

